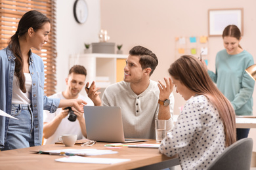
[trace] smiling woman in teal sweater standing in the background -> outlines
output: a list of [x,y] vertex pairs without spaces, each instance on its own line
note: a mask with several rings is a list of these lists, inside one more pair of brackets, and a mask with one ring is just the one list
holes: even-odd
[[[225,49],[217,53],[215,73],[208,70],[208,74],[232,103],[236,115],[252,115],[255,82],[245,69],[254,62],[253,56],[240,46],[240,40],[241,33],[238,27],[228,25],[223,31]],[[237,140],[247,137],[248,133],[249,129],[236,129]]]

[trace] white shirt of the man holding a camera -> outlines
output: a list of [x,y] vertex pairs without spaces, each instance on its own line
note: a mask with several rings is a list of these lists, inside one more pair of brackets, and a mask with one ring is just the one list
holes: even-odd
[[[62,92],[56,93],[54,95],[50,96],[51,98],[60,98],[60,99],[66,99],[63,95]],[[77,97],[78,99],[83,99],[83,101],[87,102],[87,105],[89,106],[94,106],[93,101],[91,101],[91,99],[89,99],[89,97],[85,97],[83,95],[80,95]],[[43,122],[51,122],[54,117],[60,113],[60,111],[62,110],[62,108],[58,108],[56,110],[56,112],[54,113],[50,113],[47,110],[43,111]],[[64,119],[62,119],[62,121],[60,122],[59,126],[57,127],[55,133],[49,137],[48,139],[45,139],[44,144],[53,144],[55,142],[58,142],[58,137],[60,137],[61,135],[64,134],[77,134],[77,140],[78,139],[83,139],[83,134],[81,132],[81,127],[80,124],[78,122],[78,120],[75,120],[75,122],[70,122],[70,120],[68,120],[68,116],[66,116]]]

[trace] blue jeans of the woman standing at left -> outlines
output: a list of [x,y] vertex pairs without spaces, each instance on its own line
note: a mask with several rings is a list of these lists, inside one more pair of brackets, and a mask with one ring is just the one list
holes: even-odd
[[10,118],[7,130],[5,148],[11,150],[16,148],[28,148],[35,146],[33,135],[33,112],[30,105],[12,104],[11,115],[18,120]]

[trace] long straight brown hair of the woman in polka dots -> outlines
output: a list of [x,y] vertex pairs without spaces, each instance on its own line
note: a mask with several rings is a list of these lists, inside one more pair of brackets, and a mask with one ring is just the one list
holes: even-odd
[[169,68],[169,74],[186,88],[198,95],[205,95],[217,108],[223,121],[225,146],[236,142],[236,118],[234,109],[226,97],[215,86],[202,62],[193,56],[181,56]]

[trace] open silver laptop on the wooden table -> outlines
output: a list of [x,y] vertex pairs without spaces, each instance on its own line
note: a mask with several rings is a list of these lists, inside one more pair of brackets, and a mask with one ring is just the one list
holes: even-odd
[[87,139],[110,143],[135,143],[146,140],[125,139],[120,107],[84,106]]

